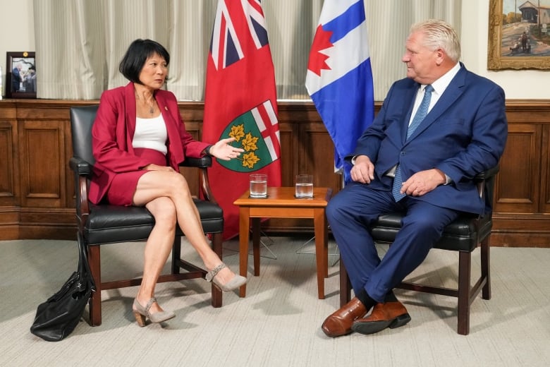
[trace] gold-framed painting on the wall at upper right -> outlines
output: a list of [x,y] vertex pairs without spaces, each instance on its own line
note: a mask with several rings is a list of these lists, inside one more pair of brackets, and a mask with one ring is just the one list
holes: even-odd
[[550,69],[550,0],[490,0],[487,68]]

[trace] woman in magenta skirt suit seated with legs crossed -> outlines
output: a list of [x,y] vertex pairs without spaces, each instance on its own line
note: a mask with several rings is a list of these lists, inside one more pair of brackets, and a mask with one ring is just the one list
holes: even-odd
[[130,44],[119,66],[130,83],[102,94],[92,128],[96,160],[90,183],[92,203],[145,206],[155,219],[145,245],[142,284],[133,303],[140,326],[146,317],[153,323],[174,317],[159,306],[154,288],[168,260],[176,224],[209,270],[209,281],[224,291],[246,282],[210,248],[188,183],[178,170],[185,157],[212,155],[231,160],[243,150],[233,148],[231,138],[209,145],[193,140],[185,131],[176,96],[161,90],[169,62],[169,53],[157,42]]

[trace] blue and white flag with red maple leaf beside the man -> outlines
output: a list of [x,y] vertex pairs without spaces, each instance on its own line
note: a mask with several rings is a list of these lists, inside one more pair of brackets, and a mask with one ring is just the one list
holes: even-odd
[[343,158],[374,119],[374,88],[363,0],[325,0],[305,86],[334,143],[334,167],[350,181]]

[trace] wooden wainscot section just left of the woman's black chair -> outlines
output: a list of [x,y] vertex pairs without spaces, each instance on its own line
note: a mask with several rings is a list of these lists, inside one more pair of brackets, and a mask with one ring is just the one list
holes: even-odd
[[[82,102],[77,102],[82,104]],[[18,102],[21,239],[75,238],[69,175],[71,101]],[[28,106],[27,106],[28,105]]]

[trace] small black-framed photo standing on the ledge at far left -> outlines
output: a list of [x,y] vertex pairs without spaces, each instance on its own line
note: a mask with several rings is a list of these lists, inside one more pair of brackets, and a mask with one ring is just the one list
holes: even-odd
[[34,52],[6,52],[6,97],[36,98]]

